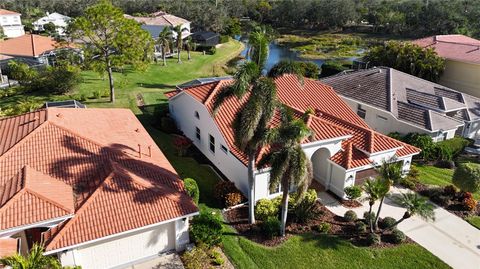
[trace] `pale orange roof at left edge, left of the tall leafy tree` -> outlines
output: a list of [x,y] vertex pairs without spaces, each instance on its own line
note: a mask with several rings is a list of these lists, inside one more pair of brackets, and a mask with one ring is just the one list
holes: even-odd
[[40,35],[26,34],[19,37],[0,41],[0,54],[38,57],[42,53],[58,49],[60,47],[73,47],[62,45],[53,38]]

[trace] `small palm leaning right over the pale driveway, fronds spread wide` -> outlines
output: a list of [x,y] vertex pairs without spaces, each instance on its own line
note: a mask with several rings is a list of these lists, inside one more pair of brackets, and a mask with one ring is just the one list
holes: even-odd
[[405,211],[402,218],[395,222],[395,224],[389,229],[396,227],[402,221],[415,215],[420,216],[426,221],[435,220],[435,211],[433,211],[434,206],[428,202],[427,198],[422,197],[417,193],[402,193],[401,196],[395,200],[401,206],[405,207],[407,211]]

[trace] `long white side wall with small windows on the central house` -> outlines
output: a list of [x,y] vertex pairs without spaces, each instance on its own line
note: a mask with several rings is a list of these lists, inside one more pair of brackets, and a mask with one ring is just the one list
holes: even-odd
[[[188,94],[179,94],[169,102],[170,114],[177,123],[177,127],[190,138],[195,146],[227,177],[235,186],[248,197],[248,170],[231,152],[222,151],[220,145],[228,149],[214,119],[205,106]],[[195,117],[198,112],[200,119]],[[201,131],[201,140],[196,138],[196,129]],[[215,138],[215,153],[209,148],[209,134]]]

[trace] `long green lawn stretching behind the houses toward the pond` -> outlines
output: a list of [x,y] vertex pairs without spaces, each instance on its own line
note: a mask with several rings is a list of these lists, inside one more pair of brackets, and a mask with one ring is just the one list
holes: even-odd
[[[108,98],[87,99],[83,103],[90,107],[127,107],[135,113],[139,113],[136,106],[136,96],[141,93],[148,98],[149,103],[158,103],[163,99],[163,92],[171,90],[175,85],[199,78],[225,75],[224,66],[236,57],[242,50],[243,44],[231,40],[217,49],[215,55],[203,55],[200,52],[192,52],[191,61],[187,61],[187,53],[182,53],[183,63],[178,64],[176,58],[169,58],[167,66],[161,63],[151,64],[144,71],[131,71],[126,69],[124,73],[114,73],[115,90],[117,101],[115,104],[108,102]],[[49,100],[65,100],[76,98],[80,95],[87,98],[93,97],[93,92],[101,93],[108,91],[107,76],[100,76],[92,71],[82,72],[83,83],[77,90],[68,95],[52,95],[46,92],[34,92],[20,94],[8,98],[0,98],[0,107],[15,105],[19,100],[29,98],[39,106]]]

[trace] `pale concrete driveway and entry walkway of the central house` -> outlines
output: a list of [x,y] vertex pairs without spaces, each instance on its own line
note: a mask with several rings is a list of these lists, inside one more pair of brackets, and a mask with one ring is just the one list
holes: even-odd
[[[391,194],[398,195],[406,191],[409,190],[392,188]],[[320,192],[318,198],[336,215],[343,216],[349,210],[326,192]],[[379,202],[375,203],[374,211],[378,205]],[[368,202],[352,210],[362,217],[368,211]],[[399,219],[404,212],[404,208],[387,198],[380,217]],[[480,230],[441,207],[435,208],[434,222],[413,216],[400,223],[398,229],[455,269],[480,269]]]

